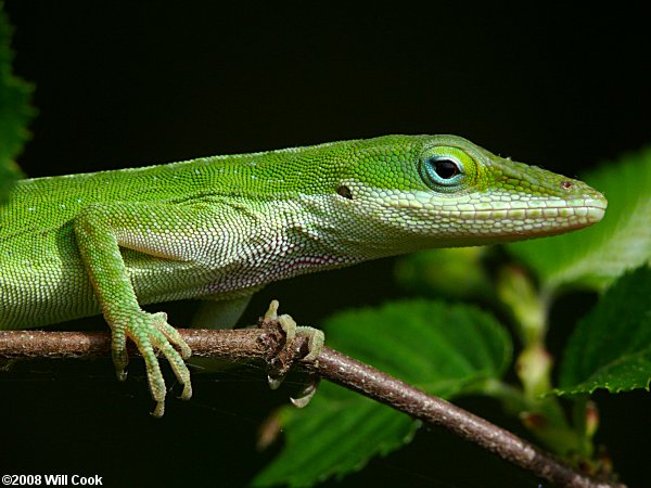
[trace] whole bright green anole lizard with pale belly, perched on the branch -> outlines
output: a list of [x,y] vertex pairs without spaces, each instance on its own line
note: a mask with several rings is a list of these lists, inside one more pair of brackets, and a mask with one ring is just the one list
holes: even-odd
[[[140,305],[207,300],[232,325],[271,281],[431,247],[559,234],[598,222],[587,184],[454,136],[387,136],[20,181],[0,208],[0,330],[102,312],[125,378],[142,354],[162,415],[157,348],[192,395],[190,348]],[[178,348],[180,350],[177,351]]]

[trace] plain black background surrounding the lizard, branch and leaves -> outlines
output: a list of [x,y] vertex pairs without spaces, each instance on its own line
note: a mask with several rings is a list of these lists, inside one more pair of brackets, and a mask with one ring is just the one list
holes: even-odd
[[[20,158],[30,177],[386,133],[457,133],[576,176],[651,142],[648,8],[135,3],[7,3],[15,70],[37,87],[39,115]],[[398,294],[392,261],[383,260],[271,285],[246,318],[278,297],[299,322],[318,324],[332,310]],[[573,323],[589,306],[585,298],[557,316]],[[173,323],[190,317],[187,305],[168,309]],[[30,362],[3,374],[2,474],[242,486],[272,457],[273,449],[255,451],[255,433],[288,391],[268,391],[263,371],[195,375],[192,401],[173,393],[161,421],[146,413],[153,404],[140,362],[129,371],[126,384],[108,360]],[[624,479],[640,486],[650,455],[649,395],[598,399],[600,440]],[[518,429],[485,401],[462,403]],[[537,480],[421,429],[411,446],[342,485]]]

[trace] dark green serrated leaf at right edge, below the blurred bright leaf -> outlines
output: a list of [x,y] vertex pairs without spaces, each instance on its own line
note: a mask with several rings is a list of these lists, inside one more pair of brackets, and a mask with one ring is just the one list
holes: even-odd
[[565,349],[556,394],[649,389],[651,269],[622,277],[579,321]]

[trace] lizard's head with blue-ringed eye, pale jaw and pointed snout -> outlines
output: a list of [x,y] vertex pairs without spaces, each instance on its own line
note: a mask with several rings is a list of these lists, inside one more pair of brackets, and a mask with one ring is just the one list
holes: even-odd
[[[385,240],[464,246],[553,235],[598,222],[607,200],[586,183],[499,157],[455,136],[360,141],[341,205]],[[403,245],[405,242],[403,242]]]

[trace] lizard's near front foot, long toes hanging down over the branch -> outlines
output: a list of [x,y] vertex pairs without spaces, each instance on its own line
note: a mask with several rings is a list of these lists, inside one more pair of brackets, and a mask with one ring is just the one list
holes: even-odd
[[[192,397],[190,371],[183,361],[192,355],[192,351],[178,331],[167,323],[166,313],[148,313],[139,310],[120,321],[120,323],[114,324],[112,329],[111,351],[117,377],[122,381],[127,377],[125,368],[128,363],[126,347],[128,337],[136,343],[144,359],[150,391],[156,401],[156,408],[152,412],[154,416],[163,416],[163,413],[165,413],[165,396],[167,393],[154,348],[157,348],[167,358],[174,374],[179,383],[183,385],[181,399],[188,400]],[[173,345],[177,346],[181,352],[179,354]]]

